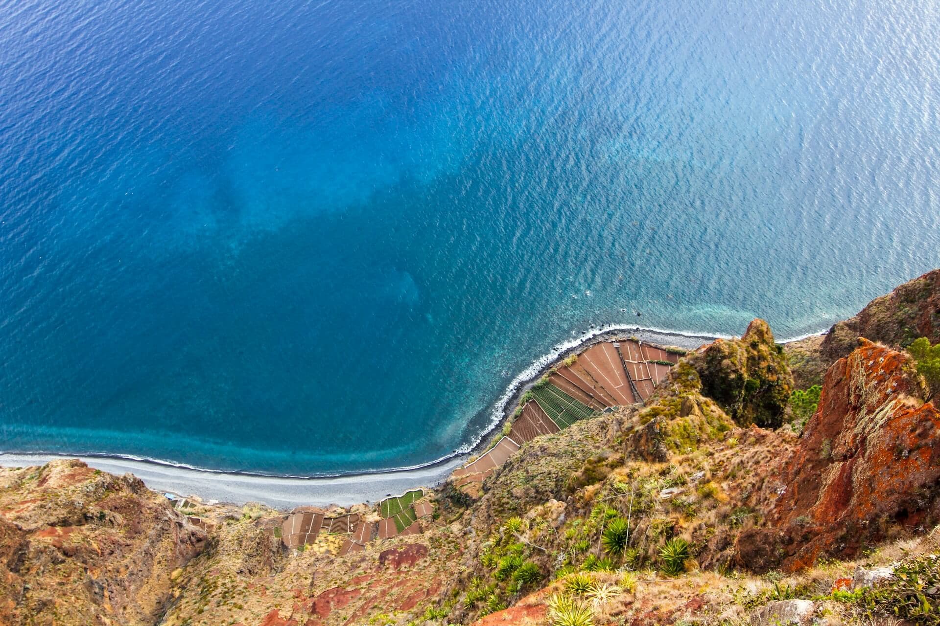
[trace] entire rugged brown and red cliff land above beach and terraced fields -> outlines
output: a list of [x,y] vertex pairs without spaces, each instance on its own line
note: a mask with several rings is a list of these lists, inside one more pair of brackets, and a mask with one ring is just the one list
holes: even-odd
[[201,507],[207,540],[133,477],[3,470],[0,624],[936,624],[940,413],[901,348],[936,341],[938,276],[798,346],[755,320],[343,556],[282,511]]

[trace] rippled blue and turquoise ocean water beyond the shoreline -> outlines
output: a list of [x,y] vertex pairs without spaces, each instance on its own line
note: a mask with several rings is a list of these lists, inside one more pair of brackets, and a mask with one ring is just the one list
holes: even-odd
[[592,325],[940,266],[922,2],[0,0],[0,449],[425,463]]

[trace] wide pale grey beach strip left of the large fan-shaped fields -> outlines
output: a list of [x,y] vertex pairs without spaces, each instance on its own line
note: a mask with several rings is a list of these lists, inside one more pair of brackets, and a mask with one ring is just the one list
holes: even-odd
[[111,474],[131,472],[155,491],[234,504],[261,502],[276,509],[331,504],[348,507],[360,502],[378,502],[389,494],[403,494],[415,487],[433,487],[466,461],[466,457],[461,456],[418,469],[314,479],[210,472],[130,459],[55,454],[0,454],[0,466],[41,466],[53,459],[75,458]]

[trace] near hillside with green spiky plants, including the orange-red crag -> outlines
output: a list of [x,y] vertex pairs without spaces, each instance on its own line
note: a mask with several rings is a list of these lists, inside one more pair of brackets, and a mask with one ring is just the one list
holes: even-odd
[[[725,354],[741,348],[719,346]],[[853,623],[872,612],[886,619],[901,602],[897,583],[887,582],[898,580],[895,569],[919,568],[921,581],[940,576],[935,559],[911,556],[935,550],[935,539],[917,542],[917,550],[891,543],[940,522],[940,412],[924,402],[910,359],[862,340],[829,369],[819,409],[796,437],[789,429],[735,425],[703,395],[692,365],[708,362],[714,350],[706,346],[681,362],[672,384],[645,408],[609,418],[621,424],[609,443],[624,443],[622,465],[595,454],[579,470],[603,466],[593,484],[569,483],[563,500],[500,520],[478,551],[479,564],[468,564],[464,608],[452,618],[462,623],[472,615],[466,607],[479,616],[509,601],[513,608],[478,624],[537,624],[553,616],[558,624],[789,623],[786,611],[799,607],[808,611],[800,623],[824,614],[833,616],[829,623]],[[739,368],[725,371],[741,375]],[[713,375],[713,368],[705,372]],[[878,546],[893,564],[872,558]],[[861,560],[842,561],[854,558]],[[525,584],[502,573],[525,563],[554,582],[525,595]],[[890,567],[867,574],[875,564]],[[862,568],[857,582],[855,567]],[[754,577],[760,573],[768,577]],[[786,573],[787,587],[770,586]],[[876,591],[870,578],[878,575],[885,587]],[[937,588],[920,584],[935,617]],[[479,589],[488,595],[477,600]],[[802,604],[784,611],[772,600]],[[577,607],[586,621],[565,621]],[[901,607],[899,615],[936,623],[920,610]]]

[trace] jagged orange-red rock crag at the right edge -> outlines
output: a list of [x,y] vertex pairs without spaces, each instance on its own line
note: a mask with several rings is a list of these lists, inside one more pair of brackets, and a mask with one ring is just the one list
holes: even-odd
[[739,538],[751,569],[853,557],[892,527],[940,521],[940,411],[904,353],[860,343],[829,368],[799,446],[765,487],[768,527]]

